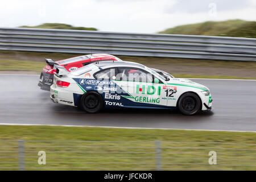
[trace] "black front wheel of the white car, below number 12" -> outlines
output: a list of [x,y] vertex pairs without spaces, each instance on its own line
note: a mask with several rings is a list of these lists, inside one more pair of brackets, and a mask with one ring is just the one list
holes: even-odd
[[201,99],[196,93],[186,92],[180,96],[177,107],[184,115],[194,115],[201,109]]

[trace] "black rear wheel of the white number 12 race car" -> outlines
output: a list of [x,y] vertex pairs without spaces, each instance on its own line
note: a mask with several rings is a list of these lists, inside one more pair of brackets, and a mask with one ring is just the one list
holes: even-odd
[[86,92],[82,95],[79,106],[86,113],[98,113],[104,107],[104,100],[97,92]]

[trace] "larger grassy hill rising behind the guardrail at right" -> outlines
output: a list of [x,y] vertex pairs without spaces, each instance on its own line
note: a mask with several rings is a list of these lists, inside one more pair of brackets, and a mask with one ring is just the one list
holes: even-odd
[[256,22],[240,19],[222,22],[185,24],[159,32],[160,34],[212,35],[256,38]]

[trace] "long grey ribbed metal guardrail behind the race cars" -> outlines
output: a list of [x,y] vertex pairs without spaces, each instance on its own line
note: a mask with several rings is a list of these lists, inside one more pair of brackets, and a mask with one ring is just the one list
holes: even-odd
[[220,36],[2,27],[0,49],[256,61],[256,39]]

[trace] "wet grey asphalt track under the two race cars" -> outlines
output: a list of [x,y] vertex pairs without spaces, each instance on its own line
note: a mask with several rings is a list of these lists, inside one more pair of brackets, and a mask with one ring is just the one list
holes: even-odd
[[213,110],[193,116],[148,109],[86,114],[53,103],[38,81],[39,75],[0,75],[0,124],[256,131],[256,81],[252,80],[194,80],[210,89]]

